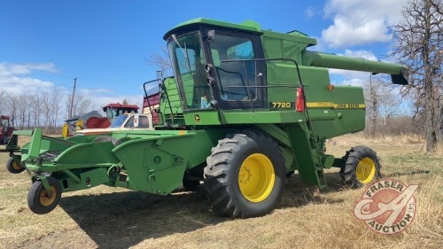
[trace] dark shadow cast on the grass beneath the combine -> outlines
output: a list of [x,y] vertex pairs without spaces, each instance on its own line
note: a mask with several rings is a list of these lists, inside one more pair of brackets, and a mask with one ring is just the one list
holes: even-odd
[[[329,174],[326,175],[330,178]],[[286,200],[276,208],[304,206],[313,201],[342,201],[307,198],[315,186],[294,186],[299,184],[297,175],[292,175],[289,182],[285,187]],[[330,183],[328,191],[339,190],[334,182]],[[289,196],[293,201],[286,198]],[[128,248],[145,239],[186,233],[230,221],[210,211],[203,186],[196,192],[175,192],[166,197],[136,191],[72,196],[62,198],[59,205],[100,248]]]

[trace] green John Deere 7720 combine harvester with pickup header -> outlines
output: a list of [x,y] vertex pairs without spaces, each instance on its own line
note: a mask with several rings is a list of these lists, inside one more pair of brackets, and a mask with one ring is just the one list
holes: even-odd
[[[325,168],[339,167],[353,188],[380,176],[368,147],[343,158],[325,152],[326,139],[365,128],[362,89],[331,85],[327,68],[391,74],[404,85],[406,66],[307,51],[315,39],[253,21],[191,19],[164,39],[175,78],[159,83],[155,130],[68,139],[14,132],[7,167],[32,173],[35,214],[51,212],[62,192],[100,184],[168,195],[203,182],[214,213],[246,218],[270,213],[294,171],[321,189]],[[18,136],[31,141],[20,148]]]

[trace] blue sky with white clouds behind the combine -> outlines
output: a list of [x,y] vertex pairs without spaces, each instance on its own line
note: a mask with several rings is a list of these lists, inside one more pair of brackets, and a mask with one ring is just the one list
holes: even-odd
[[[141,105],[143,82],[156,78],[147,60],[163,35],[188,19],[233,23],[253,19],[263,29],[299,30],[317,39],[311,50],[382,59],[390,27],[407,0],[0,0],[0,89],[15,94],[76,92],[99,109],[127,99]],[[334,83],[358,85],[367,73],[331,70]]]

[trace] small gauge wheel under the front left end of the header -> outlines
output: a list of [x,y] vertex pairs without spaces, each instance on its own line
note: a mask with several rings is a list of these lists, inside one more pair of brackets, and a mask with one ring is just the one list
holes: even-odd
[[35,181],[27,194],[27,206],[35,214],[48,214],[58,205],[61,198],[61,186],[54,177],[46,177],[51,187],[51,197],[43,187],[41,181]]

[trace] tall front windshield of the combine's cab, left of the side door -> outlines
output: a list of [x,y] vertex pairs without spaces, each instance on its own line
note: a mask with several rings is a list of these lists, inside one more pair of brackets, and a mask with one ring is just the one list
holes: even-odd
[[175,77],[183,94],[185,109],[205,109],[211,101],[211,90],[207,84],[206,59],[200,43],[200,35],[193,32],[168,41],[169,54],[173,62]]

